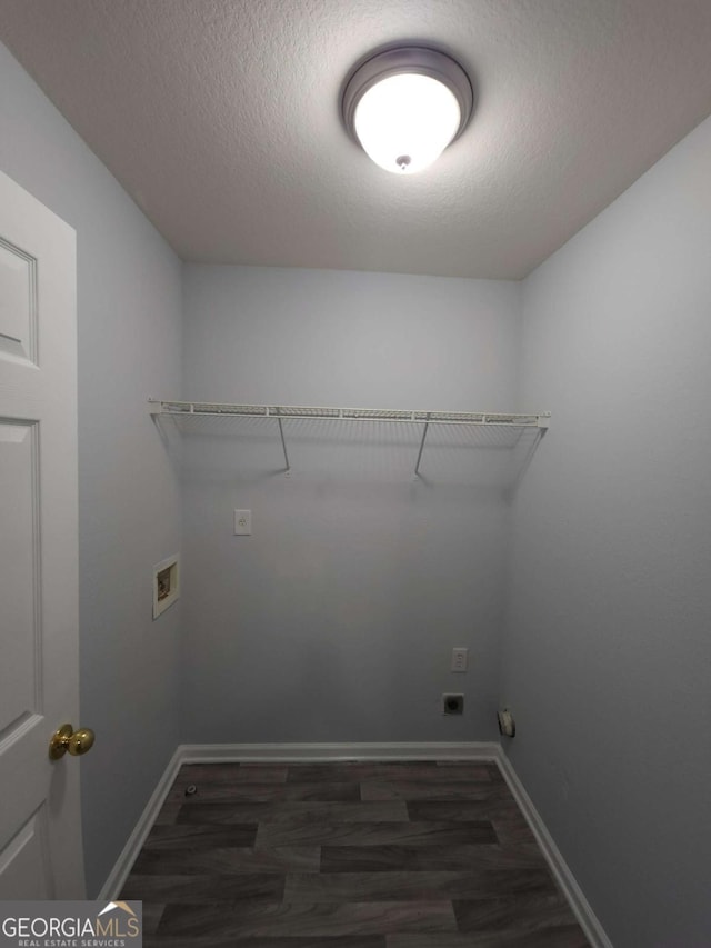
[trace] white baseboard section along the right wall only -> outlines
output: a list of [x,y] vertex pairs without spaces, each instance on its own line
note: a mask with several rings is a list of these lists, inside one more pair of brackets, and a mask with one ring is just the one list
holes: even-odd
[[503,748],[498,747],[495,759],[504,780],[509,785],[509,789],[513,794],[521,812],[528,820],[528,824],[535,836],[538,845],[543,851],[543,856],[545,856],[545,859],[548,860],[548,865],[555,877],[555,881],[562,889],[571,909],[574,911],[575,917],[580,922],[580,927],[585,932],[588,941],[590,941],[592,948],[613,948],[612,942],[605,935],[604,929],[600,925],[598,917],[590,906],[590,902],[584,897],[582,889],[578,885],[575,877],[570,871],[570,867],[563,859],[560,849],[555,846],[553,837],[548,831],[545,824],[541,819],[541,815],[533,806],[533,801],[527,794],[523,784],[521,784],[519,776],[513,769],[513,766],[507,757]]

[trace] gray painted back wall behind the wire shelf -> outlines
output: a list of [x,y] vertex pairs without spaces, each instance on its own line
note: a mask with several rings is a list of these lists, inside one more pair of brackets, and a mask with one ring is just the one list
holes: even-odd
[[[510,411],[519,337],[517,283],[184,270],[197,401]],[[290,422],[284,477],[273,422],[199,432],[183,445],[187,740],[492,738],[507,452],[445,440],[415,482],[420,429]],[[252,537],[232,536],[234,508]],[[465,676],[453,646],[471,649]],[[441,715],[447,690],[462,718]]]

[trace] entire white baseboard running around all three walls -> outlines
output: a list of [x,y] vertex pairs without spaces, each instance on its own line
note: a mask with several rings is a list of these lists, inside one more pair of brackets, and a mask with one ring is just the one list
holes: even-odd
[[183,764],[264,761],[271,764],[337,760],[492,760],[527,818],[545,859],[592,948],[612,948],[582,889],[545,828],[533,801],[499,744],[493,741],[401,744],[181,744],[176,749],[146,809],[97,899],[116,899]]

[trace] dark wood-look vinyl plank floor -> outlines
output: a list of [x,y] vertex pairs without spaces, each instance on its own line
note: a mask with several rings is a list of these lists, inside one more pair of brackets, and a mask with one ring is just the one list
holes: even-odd
[[146,948],[589,946],[487,762],[186,765],[121,898]]

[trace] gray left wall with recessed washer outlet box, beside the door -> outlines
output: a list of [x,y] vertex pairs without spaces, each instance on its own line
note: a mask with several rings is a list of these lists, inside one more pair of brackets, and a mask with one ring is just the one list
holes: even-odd
[[180,385],[180,263],[3,46],[0,89],[0,169],[77,230],[81,724],[97,745],[72,766],[94,895],[179,739],[180,606],[151,621],[179,483],[144,402]]

